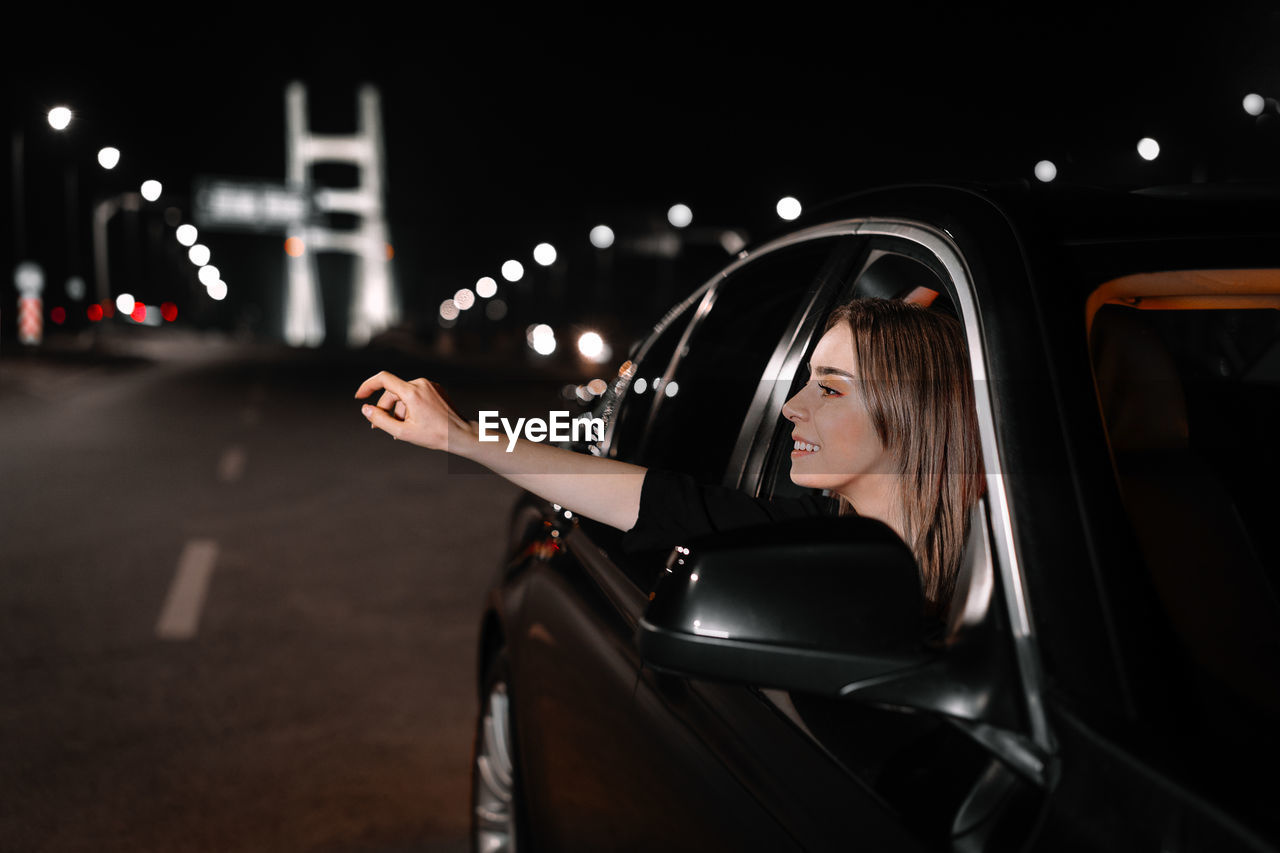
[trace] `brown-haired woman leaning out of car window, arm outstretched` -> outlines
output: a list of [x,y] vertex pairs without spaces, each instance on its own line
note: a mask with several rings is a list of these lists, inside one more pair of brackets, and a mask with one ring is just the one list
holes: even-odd
[[[840,498],[841,512],[878,519],[910,546],[924,597],[945,612],[970,510],[984,478],[960,324],[922,306],[855,300],[814,348],[809,382],[782,409],[792,423],[791,479]],[[474,460],[516,485],[628,530],[684,535],[814,515],[812,498],[764,501],[689,478],[550,444],[481,442],[426,379],[379,373],[357,398],[374,428]],[[682,534],[682,535],[677,535]]]

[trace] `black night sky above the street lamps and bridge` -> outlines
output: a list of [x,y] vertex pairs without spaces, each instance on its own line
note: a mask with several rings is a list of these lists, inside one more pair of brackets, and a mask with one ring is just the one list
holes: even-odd
[[[59,254],[63,207],[50,197],[65,196],[67,163],[81,199],[146,177],[179,206],[197,175],[282,182],[292,79],[307,83],[319,132],[352,129],[360,83],[381,91],[397,277],[424,311],[507,257],[531,265],[540,241],[581,277],[591,225],[608,222],[620,241],[649,233],[676,201],[695,224],[759,237],[783,195],[813,205],[901,181],[1032,179],[1046,158],[1059,181],[1125,188],[1270,181],[1280,154],[1276,128],[1240,108],[1251,91],[1280,96],[1280,15],[1261,5],[1178,18],[1171,6],[730,6],[719,19],[691,5],[581,17],[484,6],[425,22],[376,3],[346,19],[156,9],[59,10],[6,51],[10,129],[27,134],[28,255]],[[44,114],[60,102],[76,122],[54,138]],[[1137,156],[1143,136],[1162,145],[1155,163]],[[123,152],[111,173],[93,161],[108,143]],[[12,165],[6,269],[10,184]],[[229,286],[275,298],[276,238],[207,242]]]

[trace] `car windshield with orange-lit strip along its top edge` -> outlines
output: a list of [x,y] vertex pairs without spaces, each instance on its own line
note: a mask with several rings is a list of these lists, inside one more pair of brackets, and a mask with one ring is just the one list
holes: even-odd
[[[1234,292],[1233,292],[1234,291]],[[1089,352],[1189,777],[1262,816],[1280,757],[1280,270],[1132,275],[1091,300]],[[1239,781],[1236,781],[1239,780]]]

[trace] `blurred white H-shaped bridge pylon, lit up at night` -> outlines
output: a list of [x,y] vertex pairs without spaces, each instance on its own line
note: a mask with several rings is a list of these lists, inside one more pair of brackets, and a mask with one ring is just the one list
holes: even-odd
[[[390,243],[385,214],[385,156],[383,120],[378,90],[362,86],[357,95],[360,118],[355,134],[311,133],[307,123],[307,90],[289,83],[284,93],[285,179],[291,190],[312,199],[321,213],[346,213],[360,218],[349,231],[324,228],[298,220],[287,229],[288,291],[284,305],[284,339],[293,346],[319,346],[324,341],[324,310],[316,252],[346,252],[356,257],[351,282],[351,321],[347,341],[367,343],[370,337],[399,319],[399,305],[392,279]],[[325,190],[312,186],[311,167],[316,163],[349,163],[358,168],[360,182],[353,188]]]

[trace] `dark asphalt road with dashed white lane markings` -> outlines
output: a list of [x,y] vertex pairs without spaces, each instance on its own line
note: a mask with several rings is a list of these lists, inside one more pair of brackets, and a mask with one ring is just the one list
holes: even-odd
[[[0,849],[466,849],[517,492],[370,430],[381,361],[0,357]],[[554,387],[442,373],[463,409]]]

